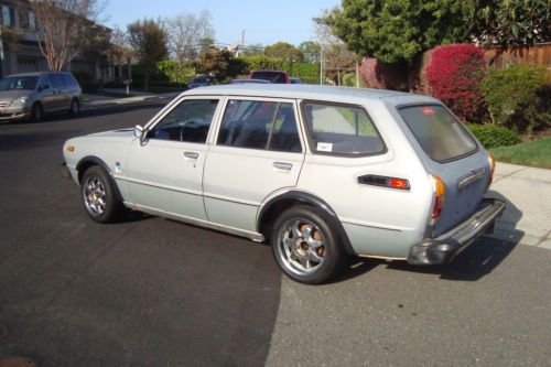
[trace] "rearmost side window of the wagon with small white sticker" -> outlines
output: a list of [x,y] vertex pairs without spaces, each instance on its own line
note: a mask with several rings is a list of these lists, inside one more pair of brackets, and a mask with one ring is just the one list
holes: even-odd
[[306,102],[303,112],[313,151],[348,155],[385,151],[374,122],[360,107]]

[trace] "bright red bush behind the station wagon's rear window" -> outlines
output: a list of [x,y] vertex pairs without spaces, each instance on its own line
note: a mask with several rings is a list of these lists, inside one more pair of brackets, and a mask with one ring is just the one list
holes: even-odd
[[480,79],[484,52],[472,44],[450,44],[434,48],[426,67],[431,94],[442,99],[463,120],[478,121],[483,112]]

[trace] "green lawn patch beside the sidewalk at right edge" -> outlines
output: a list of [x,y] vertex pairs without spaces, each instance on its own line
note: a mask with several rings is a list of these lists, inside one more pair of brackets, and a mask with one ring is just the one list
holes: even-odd
[[551,169],[551,138],[489,150],[500,162]]

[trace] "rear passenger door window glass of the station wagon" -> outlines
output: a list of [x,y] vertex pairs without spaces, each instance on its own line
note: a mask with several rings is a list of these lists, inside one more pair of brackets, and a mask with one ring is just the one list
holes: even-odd
[[293,106],[274,101],[230,100],[218,145],[300,152]]

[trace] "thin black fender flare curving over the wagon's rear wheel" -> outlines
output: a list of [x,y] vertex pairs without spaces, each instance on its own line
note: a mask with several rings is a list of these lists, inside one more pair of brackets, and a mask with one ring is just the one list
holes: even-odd
[[348,236],[346,235],[346,231],[343,227],[343,224],[338,219],[337,214],[335,211],[328,205],[324,199],[311,194],[306,193],[303,191],[288,191],[287,193],[283,193],[281,195],[278,195],[276,197],[272,197],[269,199],[264,205],[262,205],[262,208],[260,209],[260,213],[258,214],[258,219],[257,219],[257,231],[261,231],[261,227],[263,225],[263,220],[267,216],[269,216],[271,211],[276,207],[278,203],[281,202],[301,202],[307,205],[312,205],[327,214],[334,222],[335,229],[337,231],[337,235],[343,241],[343,246],[348,255],[357,255],[356,251],[354,251],[350,240],[348,239]]

